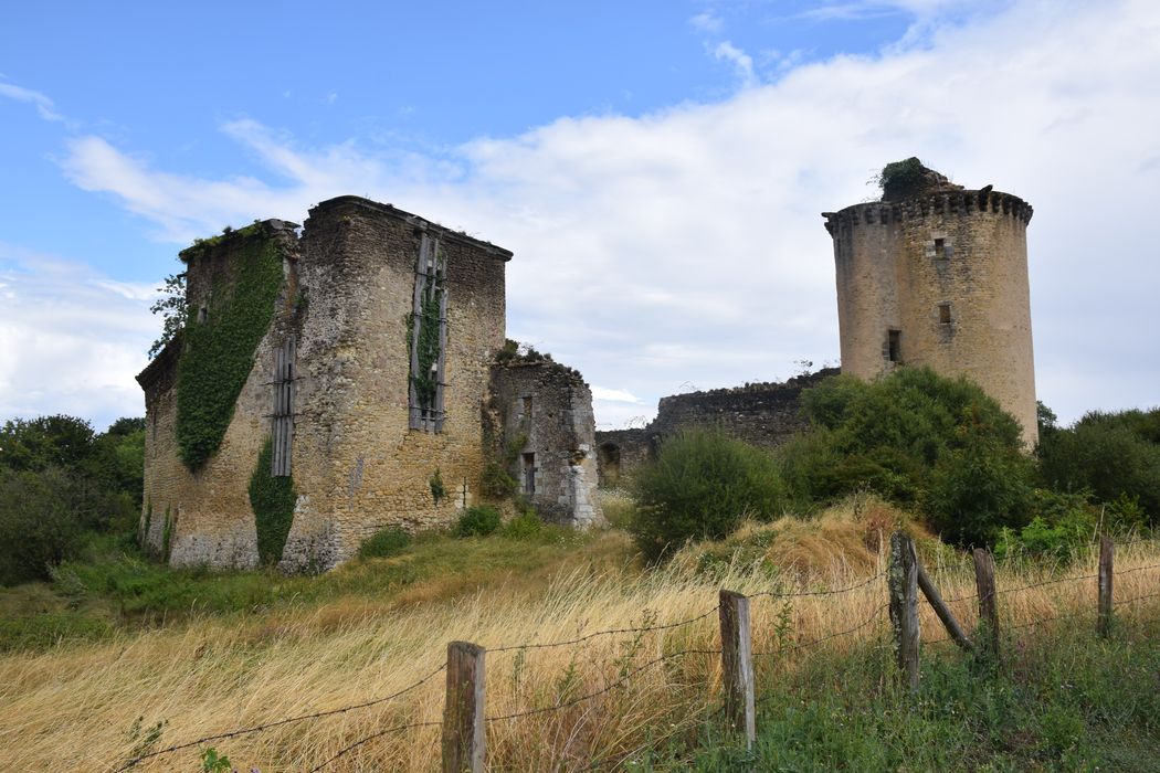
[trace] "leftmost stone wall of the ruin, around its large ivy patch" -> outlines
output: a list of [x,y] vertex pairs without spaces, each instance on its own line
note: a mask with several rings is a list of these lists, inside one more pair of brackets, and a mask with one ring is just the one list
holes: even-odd
[[[254,352],[233,416],[217,453],[196,473],[177,447],[177,363],[184,345],[177,335],[137,377],[145,391],[145,490],[142,530],[146,547],[173,566],[251,568],[258,564],[256,528],[249,505],[249,476],[269,435],[270,374],[282,328],[292,323],[297,239],[293,224],[267,220],[216,238],[191,250],[187,264],[188,324],[215,313],[215,293],[235,282],[240,250],[273,242],[283,261],[285,283],[274,322]],[[238,299],[242,300],[242,299]],[[204,309],[204,311],[203,311]],[[167,525],[168,522],[168,525]],[[148,526],[145,530],[145,526]],[[166,535],[168,534],[168,540]]]

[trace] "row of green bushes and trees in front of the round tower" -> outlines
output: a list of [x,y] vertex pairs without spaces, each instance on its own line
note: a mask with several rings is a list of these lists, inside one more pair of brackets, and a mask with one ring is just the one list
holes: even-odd
[[998,402],[928,369],[872,382],[839,375],[802,401],[809,430],[771,455],[712,430],[667,439],[635,481],[632,531],[645,554],[857,490],[914,512],[949,542],[1000,555],[1063,555],[1097,531],[1160,524],[1160,409],[1092,413],[1060,428],[1041,404],[1029,454]]

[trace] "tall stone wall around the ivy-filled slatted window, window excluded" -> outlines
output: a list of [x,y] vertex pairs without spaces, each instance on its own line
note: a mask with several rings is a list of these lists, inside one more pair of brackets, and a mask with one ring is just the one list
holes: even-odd
[[[408,429],[407,331],[423,232],[440,238],[447,256],[447,414],[437,433]],[[512,254],[354,196],[311,210],[302,250],[307,312],[293,464],[303,496],[283,566],[325,569],[379,528],[443,526],[473,502]],[[438,501],[436,473],[445,493]]]

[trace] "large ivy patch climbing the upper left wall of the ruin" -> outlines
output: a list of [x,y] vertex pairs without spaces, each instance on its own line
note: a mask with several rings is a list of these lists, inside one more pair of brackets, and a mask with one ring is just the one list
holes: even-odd
[[[261,226],[242,228],[232,239],[240,240],[233,248],[233,282],[212,289],[205,322],[197,322],[196,308],[188,311],[184,349],[177,362],[177,450],[193,472],[222,445],[282,289],[277,242],[262,238]],[[220,243],[209,246],[219,248]],[[183,257],[206,260],[208,247],[200,247],[191,255],[186,250]]]

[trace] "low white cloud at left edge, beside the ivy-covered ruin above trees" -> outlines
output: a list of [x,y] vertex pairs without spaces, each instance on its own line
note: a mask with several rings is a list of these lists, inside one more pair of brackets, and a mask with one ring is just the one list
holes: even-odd
[[153,287],[0,243],[0,416],[143,416]]

